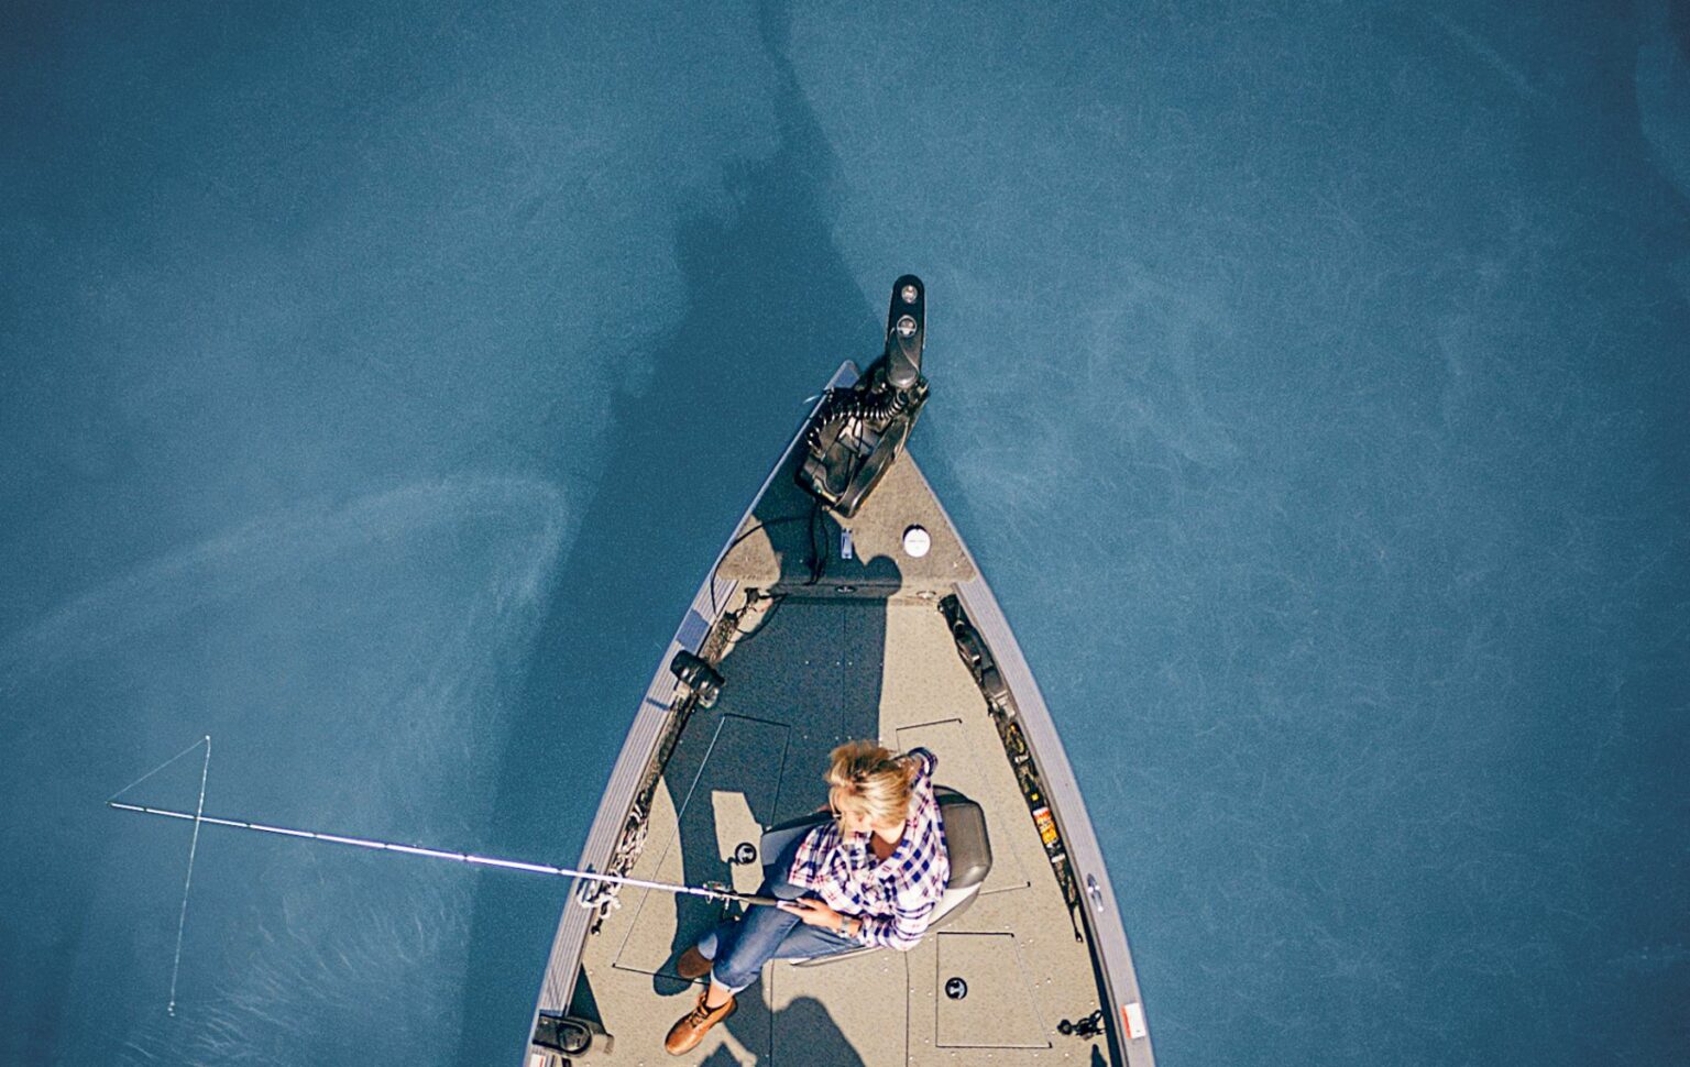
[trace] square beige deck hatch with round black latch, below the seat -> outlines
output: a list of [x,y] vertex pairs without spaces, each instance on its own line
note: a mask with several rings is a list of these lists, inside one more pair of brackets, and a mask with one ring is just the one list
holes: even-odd
[[940,1048],[1048,1048],[1014,934],[940,932]]

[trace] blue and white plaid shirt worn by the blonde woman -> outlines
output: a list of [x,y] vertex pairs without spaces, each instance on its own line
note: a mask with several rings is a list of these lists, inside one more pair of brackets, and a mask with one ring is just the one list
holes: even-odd
[[940,760],[924,748],[909,751],[921,766],[911,788],[911,814],[904,837],[886,859],[875,859],[870,834],[845,836],[838,819],[810,831],[798,846],[788,881],[815,890],[843,915],[862,918],[857,940],[908,952],[933,918],[933,908],[950,881],[945,822],[933,797],[933,768]]

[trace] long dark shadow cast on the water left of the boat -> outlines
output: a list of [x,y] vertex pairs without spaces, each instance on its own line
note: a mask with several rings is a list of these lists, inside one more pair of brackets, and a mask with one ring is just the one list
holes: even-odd
[[[647,371],[644,385],[612,400],[607,468],[564,554],[512,704],[488,849],[532,854],[546,842],[570,848],[585,834],[595,778],[602,785],[622,741],[622,709],[634,704],[630,680],[644,684],[657,652],[651,642],[674,626],[674,606],[698,572],[698,564],[676,561],[718,544],[737,501],[798,422],[818,368],[835,366],[842,346],[872,351],[874,314],[865,314],[870,306],[833,245],[837,159],[786,56],[788,15],[766,3],[757,20],[779,142],[771,155],[723,176],[733,201],[727,218],[701,209],[678,223],[683,317],[656,338],[630,338],[627,351],[598,353]],[[556,468],[563,483],[580,474],[571,454],[559,454]],[[796,750],[793,758],[801,758]],[[821,765],[813,765],[820,780]],[[531,994],[534,944],[517,951],[499,930],[549,922],[554,907],[554,898],[548,905],[521,886],[480,881],[465,1018]],[[495,1059],[505,1047],[499,1038],[466,1026],[455,1059]]]

